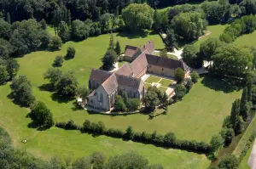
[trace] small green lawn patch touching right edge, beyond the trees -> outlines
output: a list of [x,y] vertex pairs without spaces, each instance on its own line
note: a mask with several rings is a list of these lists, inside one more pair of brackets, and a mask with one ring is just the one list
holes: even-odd
[[256,31],[253,33],[242,35],[241,37],[237,37],[236,44],[238,45],[246,45],[246,46],[256,46]]

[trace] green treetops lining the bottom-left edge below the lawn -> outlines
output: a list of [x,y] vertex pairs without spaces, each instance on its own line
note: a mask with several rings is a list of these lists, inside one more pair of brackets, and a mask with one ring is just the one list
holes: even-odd
[[35,156],[16,150],[11,145],[9,134],[0,127],[1,158],[0,168],[38,168],[38,169],[81,169],[81,168],[137,168],[137,169],[163,169],[161,165],[149,165],[149,161],[135,152],[106,157],[101,152],[73,160],[71,157],[61,158],[54,156],[49,161],[43,161]]

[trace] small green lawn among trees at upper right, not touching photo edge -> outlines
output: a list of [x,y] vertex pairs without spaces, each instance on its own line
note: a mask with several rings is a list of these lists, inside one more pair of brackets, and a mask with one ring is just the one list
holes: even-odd
[[206,37],[201,37],[198,41],[194,43],[196,47],[200,47],[201,42],[206,41],[209,37],[216,37],[218,38],[224,31],[227,25],[208,25],[207,31],[211,32]]

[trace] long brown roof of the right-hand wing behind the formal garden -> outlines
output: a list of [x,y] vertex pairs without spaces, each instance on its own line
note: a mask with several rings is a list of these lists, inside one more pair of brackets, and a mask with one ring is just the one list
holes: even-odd
[[146,54],[146,58],[149,65],[158,65],[163,68],[169,68],[169,69],[177,69],[178,67],[183,68],[183,62],[176,60],[176,59],[170,59],[170,58],[162,58],[159,56],[154,56],[152,54]]

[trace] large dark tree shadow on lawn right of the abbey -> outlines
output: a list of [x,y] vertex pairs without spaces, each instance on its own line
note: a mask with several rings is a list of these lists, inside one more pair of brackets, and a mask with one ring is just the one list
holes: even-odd
[[223,91],[224,93],[232,93],[242,88],[241,82],[221,76],[205,76],[201,83],[205,87],[209,87],[215,91]]

